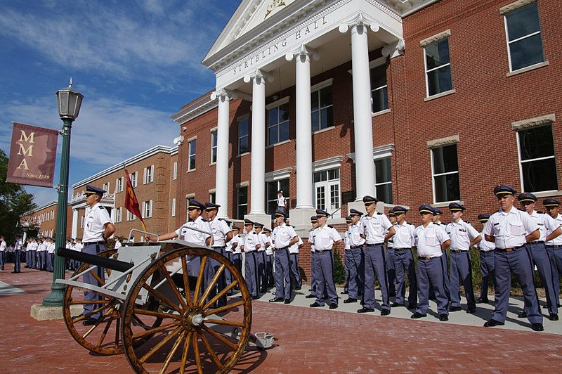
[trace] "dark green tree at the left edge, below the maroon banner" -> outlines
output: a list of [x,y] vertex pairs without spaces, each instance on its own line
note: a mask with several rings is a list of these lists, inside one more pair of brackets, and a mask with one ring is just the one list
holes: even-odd
[[20,233],[19,221],[22,214],[37,207],[33,202],[33,195],[25,192],[22,186],[7,183],[8,157],[0,150],[0,234],[8,242],[12,242],[15,235]]

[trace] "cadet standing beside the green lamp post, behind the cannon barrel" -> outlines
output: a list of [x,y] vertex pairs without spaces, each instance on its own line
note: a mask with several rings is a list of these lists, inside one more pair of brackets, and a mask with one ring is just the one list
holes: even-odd
[[[110,236],[115,233],[115,226],[110,217],[107,209],[100,205],[100,200],[105,193],[103,188],[98,188],[96,186],[91,186],[90,184],[86,186],[86,214],[84,216],[84,248],[82,252],[88,254],[98,254],[99,252],[105,250],[105,241],[110,238]],[[46,242],[46,240],[44,240]],[[105,271],[102,267],[98,266],[97,269],[98,277],[104,281]],[[89,283],[91,285],[98,285],[98,280],[94,278],[90,273],[84,274],[84,283]],[[100,300],[101,295],[96,294],[96,292],[84,291],[84,300]],[[100,311],[101,304],[84,304],[84,311],[82,315],[86,317],[83,324],[84,325],[95,325],[101,318],[102,314]]]

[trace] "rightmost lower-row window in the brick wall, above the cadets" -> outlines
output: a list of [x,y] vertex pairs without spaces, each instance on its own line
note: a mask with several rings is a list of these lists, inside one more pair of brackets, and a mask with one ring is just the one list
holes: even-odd
[[518,131],[517,139],[523,191],[558,190],[551,124]]

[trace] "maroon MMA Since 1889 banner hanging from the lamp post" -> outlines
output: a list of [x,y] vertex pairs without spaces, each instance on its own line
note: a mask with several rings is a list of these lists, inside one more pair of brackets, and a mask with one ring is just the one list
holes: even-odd
[[6,182],[53,187],[58,130],[12,123]]

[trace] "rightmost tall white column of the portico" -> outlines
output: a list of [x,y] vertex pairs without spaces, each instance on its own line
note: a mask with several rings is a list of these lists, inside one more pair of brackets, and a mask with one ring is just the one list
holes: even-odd
[[[349,25],[339,27],[346,32],[351,26],[351,66],[353,68],[353,121],[355,133],[355,190],[359,201],[374,195],[373,129],[371,117],[371,79],[367,27],[361,14]],[[371,25],[374,31],[378,25]]]

